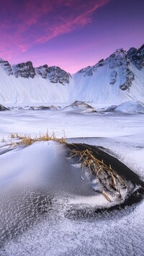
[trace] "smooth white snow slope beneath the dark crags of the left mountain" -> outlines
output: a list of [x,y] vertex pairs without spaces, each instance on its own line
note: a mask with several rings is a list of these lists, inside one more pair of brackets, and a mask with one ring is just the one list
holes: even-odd
[[35,103],[35,102],[67,102],[69,100],[69,85],[51,84],[50,81],[36,76],[32,78],[16,78],[7,76],[0,66],[0,102]]

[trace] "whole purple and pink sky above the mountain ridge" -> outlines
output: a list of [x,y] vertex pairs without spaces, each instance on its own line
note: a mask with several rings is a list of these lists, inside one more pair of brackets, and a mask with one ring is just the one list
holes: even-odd
[[71,73],[144,43],[144,0],[0,0],[0,57]]

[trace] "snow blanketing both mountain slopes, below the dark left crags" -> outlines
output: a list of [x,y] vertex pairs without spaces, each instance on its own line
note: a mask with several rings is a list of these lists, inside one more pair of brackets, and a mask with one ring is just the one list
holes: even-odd
[[[68,83],[64,84],[58,82],[65,79],[64,71],[62,77],[54,76],[53,82],[50,82],[48,77],[44,79],[37,74],[33,79],[8,76],[0,65],[0,104],[72,103],[75,100],[110,105],[129,100],[143,102],[144,67],[139,70],[133,63],[128,65],[125,54],[125,51],[114,53],[104,64],[97,63],[72,76],[67,74]],[[120,89],[121,87],[124,89]]]

